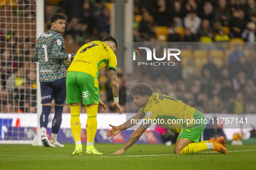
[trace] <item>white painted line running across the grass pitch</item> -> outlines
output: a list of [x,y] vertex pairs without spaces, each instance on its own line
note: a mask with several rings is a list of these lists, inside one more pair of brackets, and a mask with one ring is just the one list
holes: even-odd
[[[250,151],[256,151],[256,150],[245,150],[245,151],[228,151],[228,152],[250,152]],[[197,154],[209,154],[213,152],[204,152],[204,153],[197,153]],[[169,156],[169,155],[179,155],[179,154],[148,154],[148,155],[130,155],[130,156],[99,156],[97,157],[152,157],[152,156]],[[49,156],[49,155],[0,155],[0,156],[19,156],[19,157],[74,157],[74,156],[61,156],[61,155],[55,155],[55,156]],[[96,155],[95,155],[96,156]]]

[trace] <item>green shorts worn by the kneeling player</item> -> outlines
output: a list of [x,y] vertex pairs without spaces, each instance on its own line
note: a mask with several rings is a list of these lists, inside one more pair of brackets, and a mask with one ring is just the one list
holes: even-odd
[[204,121],[202,122],[201,120],[205,120],[205,117],[198,110],[196,110],[194,112],[193,116],[194,116],[195,120],[199,119],[200,123],[199,124],[194,124],[194,126],[189,126],[189,128],[188,127],[184,127],[181,130],[177,140],[182,138],[182,139],[191,140],[193,142],[201,142],[201,135],[202,135],[202,132],[204,131],[205,126],[206,126],[206,124],[204,124]]

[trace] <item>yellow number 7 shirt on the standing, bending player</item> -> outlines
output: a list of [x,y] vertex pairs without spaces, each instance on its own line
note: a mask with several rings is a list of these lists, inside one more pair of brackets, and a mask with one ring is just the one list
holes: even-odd
[[113,50],[101,41],[92,41],[84,44],[76,53],[68,71],[86,72],[98,78],[99,70],[108,66],[108,69],[117,70],[117,57]]

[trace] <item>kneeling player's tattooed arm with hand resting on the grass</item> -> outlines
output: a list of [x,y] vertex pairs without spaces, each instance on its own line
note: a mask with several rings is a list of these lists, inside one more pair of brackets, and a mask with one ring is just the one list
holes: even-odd
[[140,136],[149,128],[152,123],[142,124],[136,129],[133,134],[130,136],[130,139],[126,142],[122,149],[116,151],[113,154],[123,154],[128,148],[130,148],[135,142],[137,142]]

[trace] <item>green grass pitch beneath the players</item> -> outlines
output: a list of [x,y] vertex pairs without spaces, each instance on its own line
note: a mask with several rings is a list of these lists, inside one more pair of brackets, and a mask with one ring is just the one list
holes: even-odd
[[111,153],[123,144],[95,144],[103,155],[72,155],[75,144],[64,148],[0,145],[0,170],[256,170],[256,144],[227,145],[228,154],[202,151],[175,155],[174,145],[135,144],[125,154]]

